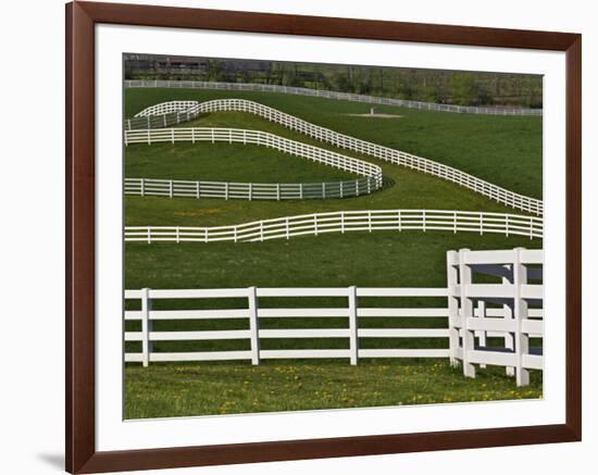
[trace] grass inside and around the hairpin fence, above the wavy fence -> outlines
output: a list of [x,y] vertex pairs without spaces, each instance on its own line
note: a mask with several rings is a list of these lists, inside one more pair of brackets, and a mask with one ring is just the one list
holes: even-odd
[[[263,129],[337,150],[276,124],[244,113],[208,114],[190,125]],[[336,200],[247,201],[221,199],[125,198],[129,226],[220,226],[326,211],[445,209],[522,214],[453,183],[371,157],[340,150],[383,168],[384,188],[370,196]],[[125,176],[257,183],[316,183],[356,175],[258,146],[228,143],[133,145],[125,149]]]

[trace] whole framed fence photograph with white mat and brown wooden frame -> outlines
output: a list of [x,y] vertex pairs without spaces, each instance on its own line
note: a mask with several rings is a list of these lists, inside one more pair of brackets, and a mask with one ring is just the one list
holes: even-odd
[[66,5],[66,470],[581,439],[581,36]]

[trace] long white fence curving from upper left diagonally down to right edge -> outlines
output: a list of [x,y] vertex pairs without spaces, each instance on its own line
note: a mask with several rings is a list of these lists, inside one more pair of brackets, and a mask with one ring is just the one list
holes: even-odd
[[[470,175],[469,173],[453,168],[452,166],[339,134],[329,128],[311,124],[294,115],[260,104],[259,102],[245,99],[217,99],[208,102],[170,101],[152,105],[139,112],[134,118],[125,121],[125,139],[127,134],[132,133],[133,129],[141,127],[148,129],[152,127],[164,127],[190,121],[202,113],[219,111],[238,111],[256,114],[336,147],[364,153],[397,165],[447,179],[507,207],[537,215],[541,215],[544,211],[541,200],[509,191],[502,187]],[[149,135],[147,130],[138,130],[137,133],[139,137],[142,137],[144,133]],[[167,137],[164,137],[164,140],[167,140]]]

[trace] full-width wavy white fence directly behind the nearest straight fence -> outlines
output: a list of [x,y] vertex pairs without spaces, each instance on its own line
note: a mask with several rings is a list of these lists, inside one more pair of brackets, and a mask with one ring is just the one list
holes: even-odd
[[543,237],[543,220],[518,214],[447,210],[335,211],[254,221],[232,226],[125,226],[125,241],[253,242],[373,230],[446,230]]

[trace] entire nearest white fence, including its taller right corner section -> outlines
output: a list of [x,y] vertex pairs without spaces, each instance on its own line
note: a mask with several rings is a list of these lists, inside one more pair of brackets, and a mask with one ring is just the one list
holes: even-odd
[[[451,364],[463,364],[463,373],[475,377],[475,365],[501,365],[508,375],[516,376],[518,386],[530,383],[530,370],[543,370],[541,349],[532,349],[530,338],[544,337],[544,287],[528,279],[543,278],[543,251],[522,248],[498,251],[447,252],[447,287],[441,288],[229,288],[229,289],[139,289],[125,290],[125,300],[140,301],[140,310],[125,311],[125,321],[140,322],[140,329],[125,332],[125,341],[140,342],[140,351],[126,351],[125,362],[216,361],[250,360],[259,364],[267,359],[341,358],[358,364],[363,358],[448,358]],[[484,273],[502,278],[502,284],[473,284],[473,273]],[[314,308],[303,298],[344,298],[346,303],[336,307]],[[448,307],[379,307],[388,301],[377,298],[416,297],[419,299],[447,298]],[[276,308],[269,299],[292,298],[292,307]],[[367,305],[362,305],[367,298]],[[176,310],[176,301],[227,299],[228,307],[201,310]],[[158,300],[167,300],[169,309],[155,310]],[[235,301],[236,303],[231,303]],[[335,300],[338,302],[338,300]],[[244,302],[238,308],[239,302]],[[265,303],[269,302],[269,303]],[[281,300],[278,300],[281,302]],[[304,301],[303,301],[304,302]],[[375,302],[375,303],[374,303]],[[431,304],[432,301],[427,301]],[[539,303],[538,303],[539,302]],[[286,303],[288,305],[288,303]],[[376,304],[378,307],[372,307]],[[437,304],[437,303],[436,303]],[[494,304],[494,307],[493,307]],[[216,305],[220,307],[220,305]],[[390,318],[399,326],[375,328],[364,325],[367,318]],[[219,329],[223,320],[246,321],[245,328]],[[277,328],[261,328],[261,322],[275,318]],[[313,327],[292,328],[282,322],[292,318],[313,318]],[[328,318],[347,318],[345,327],[326,328]],[[401,324],[401,318],[411,318]],[[441,318],[423,328],[412,327],[413,318]],[[155,321],[211,321],[212,328],[203,330],[155,332]],[[416,324],[415,324],[416,325]],[[285,327],[286,326],[286,327]],[[290,325],[292,326],[292,325]],[[215,329],[214,329],[215,328]],[[344,349],[261,349],[265,339],[342,338]],[[425,338],[445,340],[447,347],[426,342],[420,348],[365,348],[364,338]],[[503,347],[489,347],[490,339],[502,339]],[[160,341],[245,340],[249,349],[236,351],[163,351],[153,347]],[[475,342],[478,345],[475,345]],[[281,345],[281,342],[278,342]]]

